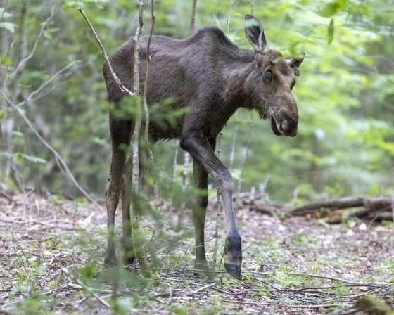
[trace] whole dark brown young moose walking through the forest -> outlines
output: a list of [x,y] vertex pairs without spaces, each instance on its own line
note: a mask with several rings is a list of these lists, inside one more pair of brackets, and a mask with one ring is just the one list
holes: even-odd
[[[151,122],[149,142],[162,139],[180,139],[183,150],[193,158],[194,185],[203,193],[193,203],[192,219],[196,238],[196,269],[208,269],[205,257],[204,225],[208,205],[208,174],[217,182],[225,212],[226,238],[224,267],[235,278],[241,276],[241,236],[236,227],[233,209],[233,179],[229,169],[215,155],[215,141],[229,117],[238,108],[257,110],[262,118],[269,118],[274,134],[297,134],[298,110],[291,91],[300,75],[304,55],[286,59],[279,51],[269,49],[264,29],[253,15],[245,16],[245,34],[253,51],[240,49],[217,27],[198,30],[189,39],[173,39],[161,35],[151,37],[151,71],[144,86],[148,36],[141,37],[139,78],[141,91],[147,89],[147,103],[171,99],[170,110],[187,108],[181,119],[171,127]],[[134,86],[134,41],[129,39],[115,51],[110,64],[120,81]],[[108,100],[116,105],[126,95],[115,82],[106,63],[103,75]],[[106,264],[115,264],[114,224],[115,210],[123,190],[126,152],[134,121],[117,117],[110,112],[112,162],[106,188],[108,212],[108,247]],[[131,239],[130,214],[122,209],[123,249]],[[134,261],[134,255],[125,255],[125,263]]]

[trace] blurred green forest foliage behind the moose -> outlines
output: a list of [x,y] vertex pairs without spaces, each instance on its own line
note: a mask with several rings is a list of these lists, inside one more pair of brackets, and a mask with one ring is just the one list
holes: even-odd
[[[110,167],[103,58],[77,7],[84,8],[111,54],[134,35],[134,2],[0,0],[0,89],[99,200]],[[189,37],[191,2],[155,1],[155,34]],[[393,4],[197,1],[197,29],[215,25],[250,49],[243,17],[253,11],[269,47],[285,56],[306,53],[293,89],[300,114],[297,137],[274,136],[268,120],[247,110],[231,117],[222,132],[220,158],[239,192],[252,190],[286,203],[393,193]],[[145,9],[148,34],[147,4]],[[51,151],[1,96],[0,124],[2,191],[80,195]],[[163,141],[153,147],[162,192],[172,174],[182,186],[184,154],[177,146],[177,141]],[[191,163],[186,171],[191,176]]]

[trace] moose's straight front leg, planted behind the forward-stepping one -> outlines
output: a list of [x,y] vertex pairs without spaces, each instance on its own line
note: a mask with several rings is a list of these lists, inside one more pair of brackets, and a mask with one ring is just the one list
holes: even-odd
[[197,202],[193,203],[193,224],[196,237],[195,269],[208,269],[205,258],[205,214],[208,205],[208,173],[193,159],[194,185],[197,188]]

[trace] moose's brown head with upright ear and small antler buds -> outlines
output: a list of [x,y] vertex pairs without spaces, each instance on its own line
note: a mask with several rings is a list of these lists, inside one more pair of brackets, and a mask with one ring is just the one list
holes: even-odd
[[245,16],[245,34],[255,49],[255,63],[246,83],[251,106],[260,117],[271,120],[274,134],[295,136],[298,110],[291,90],[305,54],[286,60],[279,51],[268,49],[260,21],[249,14]]

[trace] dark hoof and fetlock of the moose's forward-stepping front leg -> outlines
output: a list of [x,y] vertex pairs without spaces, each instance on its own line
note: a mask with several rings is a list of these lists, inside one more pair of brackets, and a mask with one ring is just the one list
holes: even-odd
[[224,244],[224,268],[234,278],[241,278],[242,245],[239,233],[231,233]]

